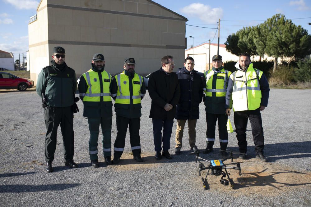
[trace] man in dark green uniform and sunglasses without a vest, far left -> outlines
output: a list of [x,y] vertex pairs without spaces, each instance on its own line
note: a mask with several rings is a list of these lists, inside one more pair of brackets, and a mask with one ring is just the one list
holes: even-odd
[[44,67],[38,76],[36,90],[45,99],[44,119],[47,129],[45,136],[45,170],[53,172],[52,162],[56,150],[57,128],[60,124],[64,142],[64,163],[77,168],[73,161],[73,106],[77,90],[76,72],[65,63],[63,47],[53,48],[52,65]]

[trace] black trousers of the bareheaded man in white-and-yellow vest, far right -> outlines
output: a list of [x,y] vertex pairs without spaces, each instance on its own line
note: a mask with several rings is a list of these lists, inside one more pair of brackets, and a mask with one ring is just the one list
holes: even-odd
[[255,144],[256,155],[263,154],[264,138],[260,109],[248,111],[234,111],[234,125],[236,138],[238,139],[239,150],[242,153],[247,152],[246,125],[250,121],[252,134]]

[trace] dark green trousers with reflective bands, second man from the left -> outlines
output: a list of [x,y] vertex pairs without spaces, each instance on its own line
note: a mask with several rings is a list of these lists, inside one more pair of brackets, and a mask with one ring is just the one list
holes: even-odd
[[89,153],[91,160],[98,160],[98,134],[99,125],[103,134],[104,157],[111,157],[111,125],[112,117],[87,118],[90,130]]

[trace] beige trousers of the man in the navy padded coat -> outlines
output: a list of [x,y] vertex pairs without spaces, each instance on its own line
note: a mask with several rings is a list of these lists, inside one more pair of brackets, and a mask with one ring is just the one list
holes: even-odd
[[[187,120],[179,119],[177,120],[177,129],[176,129],[176,136],[175,136],[175,147],[182,147],[183,145],[183,129],[185,128]],[[188,120],[188,134],[189,134],[189,144],[190,148],[195,146],[195,127],[197,125],[197,119],[190,119]]]

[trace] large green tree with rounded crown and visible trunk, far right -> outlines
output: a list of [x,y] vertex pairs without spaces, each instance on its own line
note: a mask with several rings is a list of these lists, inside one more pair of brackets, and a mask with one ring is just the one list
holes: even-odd
[[274,57],[273,72],[278,57],[302,58],[311,53],[311,36],[300,25],[296,26],[284,15],[276,14],[260,24],[254,43],[258,54]]

